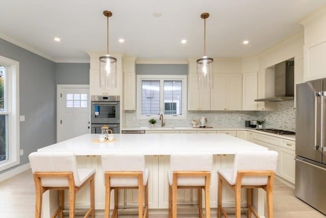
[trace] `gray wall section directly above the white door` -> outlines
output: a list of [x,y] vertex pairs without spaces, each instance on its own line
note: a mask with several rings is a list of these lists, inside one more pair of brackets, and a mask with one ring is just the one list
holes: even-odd
[[89,63],[56,63],[56,85],[90,84]]

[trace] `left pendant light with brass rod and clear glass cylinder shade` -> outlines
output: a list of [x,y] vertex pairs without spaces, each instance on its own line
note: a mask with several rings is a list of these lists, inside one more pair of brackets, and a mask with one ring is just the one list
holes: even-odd
[[112,16],[111,11],[103,11],[107,17],[106,55],[100,57],[100,87],[105,89],[117,87],[117,59],[108,54],[108,17]]

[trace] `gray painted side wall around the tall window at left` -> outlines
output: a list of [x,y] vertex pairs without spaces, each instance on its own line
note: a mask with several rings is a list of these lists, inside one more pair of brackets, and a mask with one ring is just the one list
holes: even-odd
[[29,162],[31,152],[56,141],[56,64],[3,39],[0,55],[19,61],[19,110],[20,115],[25,115],[25,121],[20,122],[23,165]]

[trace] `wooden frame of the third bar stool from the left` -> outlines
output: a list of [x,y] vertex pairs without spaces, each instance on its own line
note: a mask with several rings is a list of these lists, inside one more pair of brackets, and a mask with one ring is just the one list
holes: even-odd
[[[200,186],[181,186],[177,185],[178,177],[205,177],[205,185]],[[169,218],[177,217],[177,189],[178,188],[198,188],[199,198],[199,217],[204,217],[202,205],[202,189],[205,191],[205,213],[206,218],[210,218],[210,172],[209,171],[174,171],[173,185],[169,185]]]

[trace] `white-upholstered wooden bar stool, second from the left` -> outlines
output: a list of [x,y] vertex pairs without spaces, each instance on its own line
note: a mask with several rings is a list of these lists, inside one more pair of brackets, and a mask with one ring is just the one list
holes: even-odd
[[[118,189],[138,189],[138,216],[148,218],[148,169],[145,156],[141,153],[103,154],[102,171],[105,185],[105,215],[110,214],[111,190],[114,190],[114,210],[112,217],[118,217]],[[145,188],[144,188],[145,186]],[[143,199],[145,189],[145,209]]]

